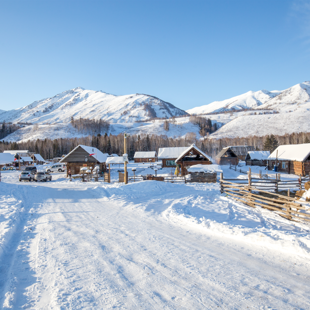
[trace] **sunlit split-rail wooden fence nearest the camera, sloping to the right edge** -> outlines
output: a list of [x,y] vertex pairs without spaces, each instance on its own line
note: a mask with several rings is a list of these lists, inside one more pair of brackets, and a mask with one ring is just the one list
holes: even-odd
[[[220,178],[221,193],[225,193],[232,199],[242,202],[247,206],[274,211],[289,220],[310,222],[310,204],[304,201],[296,201],[294,198],[283,196],[264,190],[258,190],[251,185],[233,183]],[[309,211],[307,211],[309,209]]]

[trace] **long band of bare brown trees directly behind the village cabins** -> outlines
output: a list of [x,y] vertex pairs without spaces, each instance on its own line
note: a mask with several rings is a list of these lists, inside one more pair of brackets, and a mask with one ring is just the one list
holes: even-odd
[[[284,136],[272,135],[279,145],[284,144],[302,144],[309,143],[310,133],[298,133]],[[222,150],[223,147],[232,145],[251,145],[256,150],[264,150],[270,137],[251,136],[247,138],[223,138],[223,139],[209,139],[199,140],[196,135],[186,135],[185,138],[169,138],[166,135],[132,135],[127,138],[127,153],[129,159],[132,160],[136,151],[156,151],[164,147],[181,147],[190,146],[195,143],[207,155],[215,158],[215,156]],[[269,139],[269,140],[268,140]],[[272,139],[272,140],[273,140]],[[108,154],[123,154],[124,138],[122,134],[119,135],[93,135],[82,138],[63,139],[58,138],[54,140],[34,140],[22,143],[16,142],[1,142],[0,152],[5,150],[29,150],[40,154],[44,159],[52,159],[67,155],[79,144],[93,146],[103,153]],[[273,147],[275,144],[273,144]],[[272,149],[268,149],[271,150]]]

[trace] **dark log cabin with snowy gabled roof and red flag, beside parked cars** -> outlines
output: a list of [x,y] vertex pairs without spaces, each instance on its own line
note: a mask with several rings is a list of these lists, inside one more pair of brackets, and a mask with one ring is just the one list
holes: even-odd
[[106,160],[107,156],[100,152],[98,149],[85,146],[78,145],[73,151],[71,151],[64,158],[61,158],[59,162],[67,163],[67,177],[69,173],[69,169],[71,170],[71,174],[80,173],[80,169],[82,167],[94,167],[97,165],[100,167],[100,170],[106,169]]

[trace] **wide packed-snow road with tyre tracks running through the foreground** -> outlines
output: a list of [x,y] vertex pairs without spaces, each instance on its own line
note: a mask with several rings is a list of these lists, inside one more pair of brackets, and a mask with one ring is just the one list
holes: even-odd
[[0,256],[5,309],[310,306],[308,258],[172,221],[156,202],[167,193],[137,205],[119,185],[4,180],[6,199],[21,201]]

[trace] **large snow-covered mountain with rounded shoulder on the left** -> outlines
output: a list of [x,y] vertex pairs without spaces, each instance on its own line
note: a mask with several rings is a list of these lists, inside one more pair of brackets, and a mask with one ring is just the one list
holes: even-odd
[[186,114],[171,103],[153,96],[115,96],[78,87],[52,98],[35,101],[23,108],[5,111],[0,114],[0,122],[6,120],[41,124],[63,123],[69,122],[73,116],[75,119],[102,118],[117,123]]

